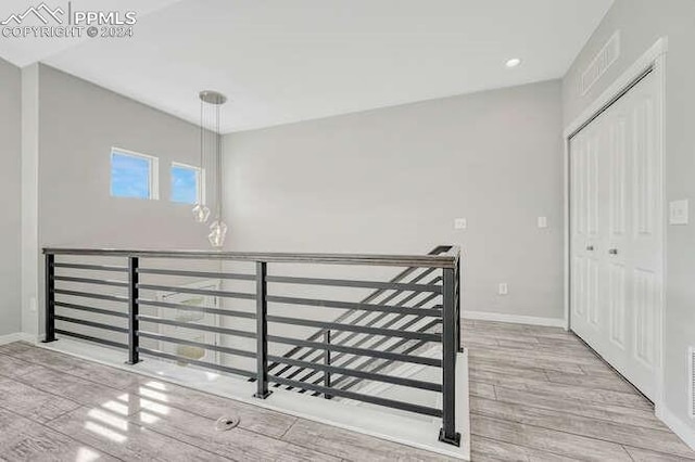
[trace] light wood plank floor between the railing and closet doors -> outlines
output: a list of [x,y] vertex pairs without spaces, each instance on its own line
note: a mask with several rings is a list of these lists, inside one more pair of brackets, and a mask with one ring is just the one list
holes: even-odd
[[464,322],[473,461],[695,460],[652,405],[561,329]]

